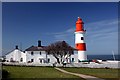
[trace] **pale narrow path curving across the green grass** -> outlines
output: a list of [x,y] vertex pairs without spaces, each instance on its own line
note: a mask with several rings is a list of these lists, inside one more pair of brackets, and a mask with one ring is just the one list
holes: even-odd
[[63,69],[60,69],[60,68],[56,68],[55,69],[63,72],[63,73],[67,73],[67,74],[72,74],[72,75],[75,75],[75,76],[79,76],[81,78],[84,78],[86,80],[104,80],[104,79],[100,79],[100,78],[97,78],[97,77],[94,77],[94,76],[88,76],[88,75],[84,75],[84,74],[78,74],[78,73],[72,73],[72,72],[68,72],[68,71],[65,71]]

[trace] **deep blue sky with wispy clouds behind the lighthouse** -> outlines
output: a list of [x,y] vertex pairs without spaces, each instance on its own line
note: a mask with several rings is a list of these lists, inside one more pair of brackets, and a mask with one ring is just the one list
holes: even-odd
[[86,29],[88,55],[118,54],[117,2],[14,2],[2,4],[2,53],[64,40],[75,46],[77,17]]

